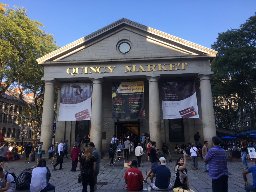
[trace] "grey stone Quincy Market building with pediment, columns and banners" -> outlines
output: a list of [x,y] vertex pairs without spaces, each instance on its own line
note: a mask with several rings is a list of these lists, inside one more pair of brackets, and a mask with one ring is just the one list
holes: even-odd
[[71,148],[78,134],[90,134],[99,151],[113,134],[150,132],[160,150],[194,142],[197,131],[201,142],[211,141],[216,54],[125,18],[53,51],[37,59],[45,82],[41,141],[52,143],[55,86],[55,140],[67,139]]

